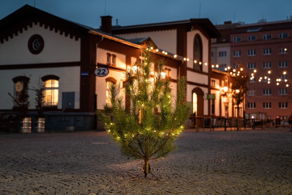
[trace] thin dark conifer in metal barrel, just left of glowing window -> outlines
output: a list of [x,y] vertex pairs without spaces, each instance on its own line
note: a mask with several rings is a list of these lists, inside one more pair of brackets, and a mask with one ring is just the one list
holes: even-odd
[[35,108],[36,108],[36,112],[38,117],[43,117],[44,113],[43,113],[43,107],[44,107],[44,91],[45,91],[45,85],[43,84],[43,82],[41,81],[40,77],[39,80],[37,82],[37,87],[33,87],[33,90],[36,93],[36,97],[35,97]]

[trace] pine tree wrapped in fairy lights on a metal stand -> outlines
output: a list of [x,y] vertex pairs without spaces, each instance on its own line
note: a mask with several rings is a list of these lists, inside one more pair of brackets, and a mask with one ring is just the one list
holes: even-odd
[[185,128],[191,107],[185,101],[186,77],[178,78],[177,97],[172,104],[171,80],[163,76],[166,62],[158,60],[154,73],[151,45],[144,48],[142,57],[137,69],[125,73],[129,109],[123,97],[117,97],[117,86],[113,84],[109,92],[111,105],[104,105],[104,114],[96,114],[122,154],[144,160],[142,173],[147,177],[150,159],[167,156],[175,149],[175,140]]

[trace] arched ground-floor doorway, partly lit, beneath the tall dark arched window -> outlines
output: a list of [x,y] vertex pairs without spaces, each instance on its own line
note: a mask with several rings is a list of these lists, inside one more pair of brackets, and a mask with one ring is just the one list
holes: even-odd
[[192,111],[196,116],[204,115],[204,92],[199,87],[192,90]]

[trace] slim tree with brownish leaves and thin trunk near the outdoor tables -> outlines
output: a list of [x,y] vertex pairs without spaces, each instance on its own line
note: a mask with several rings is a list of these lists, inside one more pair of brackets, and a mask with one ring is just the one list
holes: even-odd
[[[239,73],[238,73],[239,72]],[[234,100],[234,104],[237,106],[237,128],[239,130],[240,120],[239,120],[239,104],[244,101],[245,93],[247,92],[247,82],[248,77],[244,72],[242,65],[239,66],[239,69],[235,71],[237,73],[234,77],[234,82],[232,84],[232,98]],[[245,106],[245,105],[243,105]]]

